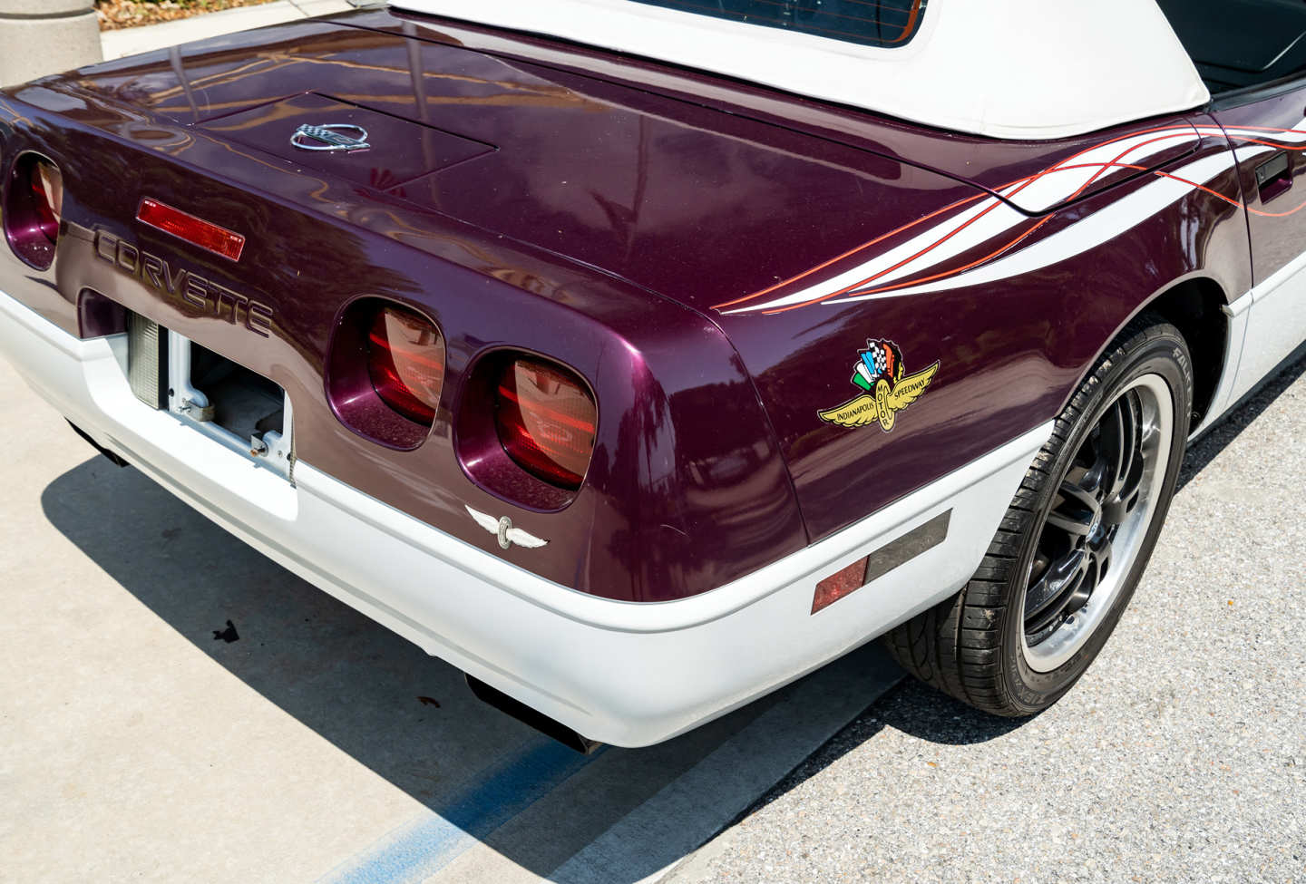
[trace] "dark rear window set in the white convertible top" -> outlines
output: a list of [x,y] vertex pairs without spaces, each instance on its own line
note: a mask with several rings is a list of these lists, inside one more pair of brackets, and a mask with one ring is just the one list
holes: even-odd
[[926,0],[631,0],[631,3],[828,37],[858,46],[892,48],[905,46],[921,27]]

